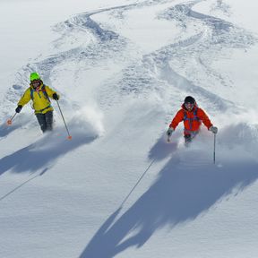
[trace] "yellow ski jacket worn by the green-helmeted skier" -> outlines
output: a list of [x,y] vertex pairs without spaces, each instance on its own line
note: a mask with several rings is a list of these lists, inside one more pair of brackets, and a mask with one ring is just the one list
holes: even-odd
[[[51,106],[51,101],[49,98],[53,99],[53,94],[56,93],[49,86],[41,83],[37,89],[34,89],[30,84],[30,88],[25,90],[22,98],[18,102],[18,106],[22,107],[26,105],[30,99],[33,101],[33,109],[35,109],[35,114],[46,114],[48,111],[53,111]],[[57,94],[57,93],[56,93]]]

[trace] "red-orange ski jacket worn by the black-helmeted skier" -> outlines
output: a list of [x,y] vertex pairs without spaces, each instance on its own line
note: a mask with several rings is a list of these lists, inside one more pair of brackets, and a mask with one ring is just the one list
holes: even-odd
[[202,108],[197,107],[195,104],[191,111],[188,111],[185,108],[185,105],[182,105],[182,108],[176,113],[176,116],[173,118],[169,127],[176,129],[176,126],[184,121],[185,125],[185,134],[199,131],[202,123],[208,128],[212,126],[209,116],[202,110]]

